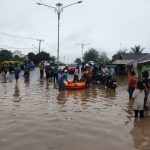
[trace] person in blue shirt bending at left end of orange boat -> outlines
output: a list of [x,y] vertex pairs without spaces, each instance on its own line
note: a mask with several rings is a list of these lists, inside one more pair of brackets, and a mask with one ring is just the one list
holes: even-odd
[[64,81],[68,81],[68,76],[67,76],[67,70],[64,70],[64,73],[58,78],[58,85],[59,85],[59,91],[63,91],[65,90],[65,84],[64,84]]

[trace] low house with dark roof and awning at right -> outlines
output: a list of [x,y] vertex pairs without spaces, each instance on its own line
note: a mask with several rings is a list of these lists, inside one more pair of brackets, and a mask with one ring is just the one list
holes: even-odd
[[150,53],[123,53],[120,59],[115,60],[116,74],[127,74],[129,71],[134,70],[141,76],[141,72],[149,70],[150,66]]

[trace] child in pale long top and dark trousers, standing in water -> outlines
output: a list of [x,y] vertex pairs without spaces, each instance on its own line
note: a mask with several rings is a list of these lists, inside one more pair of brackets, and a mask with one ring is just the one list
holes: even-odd
[[144,117],[144,87],[141,81],[137,82],[137,90],[135,91],[134,113],[135,113],[135,118],[138,117],[139,113],[140,113],[140,118]]

